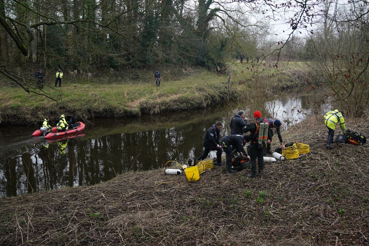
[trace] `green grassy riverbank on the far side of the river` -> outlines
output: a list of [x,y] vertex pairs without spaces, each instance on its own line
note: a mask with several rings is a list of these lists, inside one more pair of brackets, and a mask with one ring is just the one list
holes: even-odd
[[[224,74],[202,68],[164,68],[160,87],[155,86],[153,72],[147,69],[101,74],[89,80],[65,74],[61,88],[54,87],[54,75],[50,73],[44,93],[58,101],[27,94],[9,82],[2,83],[0,125],[39,124],[44,117],[55,121],[63,113],[77,115],[80,119],[120,118],[204,108],[243,95],[245,91],[253,92],[247,89],[254,88],[256,81],[261,83],[260,77],[250,79],[256,68],[255,64],[237,63],[228,67]],[[286,69],[288,75],[281,73],[279,76],[273,76],[276,71],[265,70],[262,83],[268,85],[268,89],[296,86],[303,78],[293,69],[296,70]]]

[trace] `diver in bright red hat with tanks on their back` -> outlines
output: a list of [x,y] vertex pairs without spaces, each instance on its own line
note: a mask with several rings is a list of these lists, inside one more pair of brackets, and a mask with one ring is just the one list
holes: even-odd
[[256,159],[258,159],[258,174],[261,174],[261,171],[264,168],[264,148],[265,144],[259,144],[259,126],[260,123],[264,122],[261,118],[261,112],[255,111],[254,112],[255,121],[252,121],[247,124],[242,131],[244,133],[251,132],[250,134],[250,165],[251,165],[251,174],[247,174],[249,178],[256,177]]

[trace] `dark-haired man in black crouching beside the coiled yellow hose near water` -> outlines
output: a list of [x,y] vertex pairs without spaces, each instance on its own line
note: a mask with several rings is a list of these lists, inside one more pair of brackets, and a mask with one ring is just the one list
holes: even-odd
[[217,121],[214,125],[212,125],[205,133],[204,136],[204,153],[197,157],[196,160],[204,160],[211,150],[215,150],[217,152],[217,162],[214,163],[218,166],[221,166],[222,163],[222,147],[219,143],[219,134],[220,130],[223,127],[223,123]]

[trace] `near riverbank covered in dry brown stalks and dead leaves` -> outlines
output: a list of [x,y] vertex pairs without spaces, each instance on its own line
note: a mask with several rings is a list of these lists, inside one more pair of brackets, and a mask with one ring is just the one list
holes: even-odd
[[[367,118],[346,119],[346,127],[369,134]],[[266,164],[256,179],[223,166],[187,182],[163,168],[1,198],[0,244],[368,245],[368,148],[328,150],[326,134],[321,116],[282,132],[310,153]]]

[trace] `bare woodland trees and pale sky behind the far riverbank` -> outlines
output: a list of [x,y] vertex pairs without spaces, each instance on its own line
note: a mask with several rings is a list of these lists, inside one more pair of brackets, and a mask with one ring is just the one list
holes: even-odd
[[1,0],[0,86],[9,81],[56,100],[34,88],[34,69],[124,76],[170,64],[230,73],[243,55],[265,64],[249,79],[281,61],[304,62],[308,86],[327,86],[327,100],[362,115],[368,11],[355,0]]

